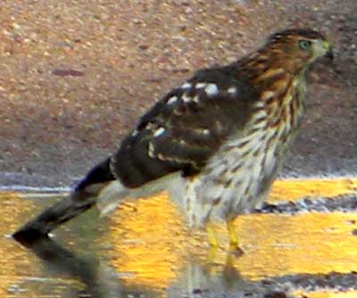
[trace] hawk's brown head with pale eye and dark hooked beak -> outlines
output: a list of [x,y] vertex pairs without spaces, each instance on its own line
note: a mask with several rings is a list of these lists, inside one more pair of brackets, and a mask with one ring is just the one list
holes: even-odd
[[[274,63],[284,63],[289,70],[306,70],[318,58],[332,59],[332,47],[320,32],[311,29],[287,29],[270,36],[263,47]],[[283,66],[283,65],[281,65]],[[297,68],[297,69],[296,69]]]

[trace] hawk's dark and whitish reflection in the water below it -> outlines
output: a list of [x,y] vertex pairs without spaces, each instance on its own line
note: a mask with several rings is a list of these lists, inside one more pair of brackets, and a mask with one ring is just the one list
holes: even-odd
[[[85,285],[80,296],[86,297],[159,297],[155,289],[145,289],[145,286],[128,288],[120,283],[119,273],[104,261],[95,257],[83,257],[63,248],[49,238],[43,238],[35,243],[26,244],[30,251],[45,262],[55,277],[70,276]],[[229,259],[229,258],[228,258]],[[189,260],[180,270],[174,283],[164,289],[169,297],[252,297],[252,298],[286,298],[294,297],[287,294],[288,290],[278,284],[267,281],[252,282],[240,276],[230,261],[222,270],[217,271],[214,263],[202,263]]]

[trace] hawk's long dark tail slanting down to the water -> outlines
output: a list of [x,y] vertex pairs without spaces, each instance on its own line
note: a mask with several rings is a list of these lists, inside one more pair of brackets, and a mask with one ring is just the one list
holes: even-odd
[[29,220],[12,236],[19,242],[34,242],[40,237],[48,236],[62,223],[87,211],[96,203],[96,197],[101,190],[111,181],[115,180],[110,170],[110,159],[103,161],[87,174],[87,177],[79,182],[71,195],[59,203],[55,203],[46,211],[43,211],[35,219]]

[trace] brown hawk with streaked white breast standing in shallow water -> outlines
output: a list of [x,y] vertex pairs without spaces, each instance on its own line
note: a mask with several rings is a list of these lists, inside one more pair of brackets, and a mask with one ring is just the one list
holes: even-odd
[[[190,227],[228,223],[261,204],[303,114],[306,73],[328,41],[311,29],[288,29],[223,67],[199,70],[145,113],[120,149],[91,170],[71,196],[44,211],[15,238],[45,236],[97,203],[106,211],[126,196],[170,192]],[[154,214],[153,214],[154,217]]]

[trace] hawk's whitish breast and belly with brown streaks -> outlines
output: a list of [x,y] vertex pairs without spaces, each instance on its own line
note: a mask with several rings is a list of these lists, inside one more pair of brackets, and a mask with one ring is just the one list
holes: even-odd
[[245,130],[228,138],[205,169],[186,182],[184,208],[191,228],[234,219],[264,202],[303,115],[305,87],[292,81],[291,88],[284,103],[269,98],[255,103]]

